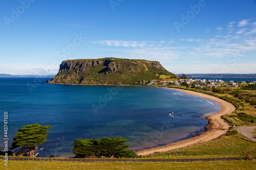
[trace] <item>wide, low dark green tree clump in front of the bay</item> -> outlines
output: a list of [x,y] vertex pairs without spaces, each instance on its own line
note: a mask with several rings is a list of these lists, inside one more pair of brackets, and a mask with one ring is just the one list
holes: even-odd
[[137,155],[129,148],[125,142],[128,139],[122,137],[104,137],[103,139],[76,139],[73,142],[72,153],[76,157],[136,157]]

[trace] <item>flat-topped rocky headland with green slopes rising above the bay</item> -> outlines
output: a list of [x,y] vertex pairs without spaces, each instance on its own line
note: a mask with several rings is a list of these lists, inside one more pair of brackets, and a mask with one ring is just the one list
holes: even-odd
[[157,80],[160,75],[176,75],[158,61],[120,58],[78,59],[62,61],[50,84],[133,84]]

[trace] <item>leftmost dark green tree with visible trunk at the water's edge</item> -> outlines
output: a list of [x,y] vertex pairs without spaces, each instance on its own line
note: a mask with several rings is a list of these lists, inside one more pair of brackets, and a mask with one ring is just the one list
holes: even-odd
[[27,125],[20,128],[14,138],[11,150],[15,150],[16,156],[23,156],[27,154],[29,157],[35,157],[37,146],[47,141],[47,130],[50,130],[51,126],[45,125]]

